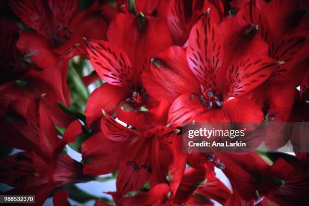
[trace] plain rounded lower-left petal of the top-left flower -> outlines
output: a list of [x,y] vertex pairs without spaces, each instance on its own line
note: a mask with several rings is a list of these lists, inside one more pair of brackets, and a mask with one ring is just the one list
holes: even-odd
[[33,31],[21,32],[17,47],[39,68],[54,66],[57,61],[57,56],[51,50],[48,40]]

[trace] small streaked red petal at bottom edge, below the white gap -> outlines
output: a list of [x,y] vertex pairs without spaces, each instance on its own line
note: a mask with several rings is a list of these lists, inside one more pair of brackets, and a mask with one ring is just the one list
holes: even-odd
[[231,191],[218,178],[207,180],[197,188],[196,192],[221,204],[224,204],[231,194]]

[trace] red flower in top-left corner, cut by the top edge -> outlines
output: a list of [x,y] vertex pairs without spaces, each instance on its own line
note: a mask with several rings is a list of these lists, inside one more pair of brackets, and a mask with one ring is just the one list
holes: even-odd
[[15,1],[12,10],[35,31],[23,31],[18,48],[39,67],[54,65],[82,37],[105,39],[107,25],[99,10],[77,12],[77,1]]

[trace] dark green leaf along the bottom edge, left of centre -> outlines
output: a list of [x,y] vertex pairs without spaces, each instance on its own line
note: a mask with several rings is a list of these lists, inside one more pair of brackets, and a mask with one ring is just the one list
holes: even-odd
[[66,189],[69,191],[69,197],[77,202],[85,203],[89,200],[101,200],[107,203],[113,203],[112,200],[106,197],[97,197],[91,194],[88,194],[87,192],[79,189],[74,184],[71,185],[63,185],[60,187],[55,188],[52,192],[50,192],[49,197],[52,197],[54,193],[59,189]]

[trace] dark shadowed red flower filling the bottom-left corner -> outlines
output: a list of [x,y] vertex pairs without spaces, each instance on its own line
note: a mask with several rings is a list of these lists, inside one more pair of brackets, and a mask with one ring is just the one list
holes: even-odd
[[[81,164],[62,153],[65,145],[81,133],[78,121],[72,122],[59,139],[39,100],[30,100],[26,123],[18,117],[25,111],[20,111],[17,102],[12,107],[16,109],[15,116],[11,113],[7,121],[20,134],[10,136],[10,145],[25,151],[0,161],[1,182],[15,187],[5,194],[35,195],[35,203],[41,205],[53,188],[89,180],[83,175]],[[9,143],[8,139],[4,142]]]

